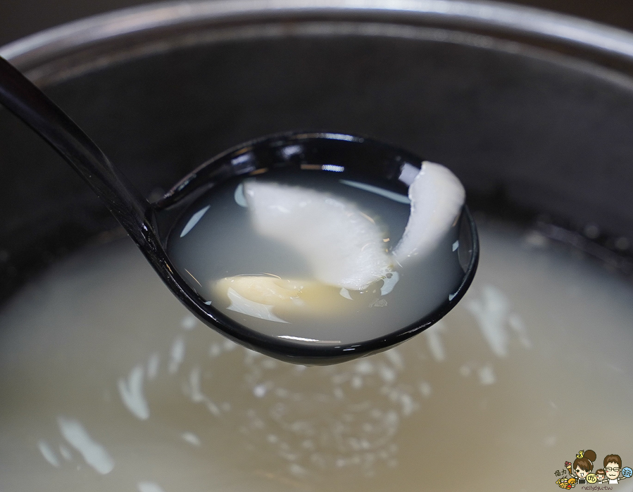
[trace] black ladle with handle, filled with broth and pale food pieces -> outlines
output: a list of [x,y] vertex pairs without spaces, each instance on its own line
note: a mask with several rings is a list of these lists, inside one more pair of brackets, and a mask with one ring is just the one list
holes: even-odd
[[475,275],[463,187],[401,149],[275,135],[209,160],[150,204],[2,58],[0,103],[84,178],[192,313],[272,357],[330,364],[383,351],[444,317]]

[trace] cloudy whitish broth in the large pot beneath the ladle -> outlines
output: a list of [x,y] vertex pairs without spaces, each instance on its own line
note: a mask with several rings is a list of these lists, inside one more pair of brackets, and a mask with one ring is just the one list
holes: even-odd
[[441,323],[329,367],[203,327],[131,241],[78,253],[0,314],[0,491],[544,491],[581,449],[630,465],[633,289],[480,233]]

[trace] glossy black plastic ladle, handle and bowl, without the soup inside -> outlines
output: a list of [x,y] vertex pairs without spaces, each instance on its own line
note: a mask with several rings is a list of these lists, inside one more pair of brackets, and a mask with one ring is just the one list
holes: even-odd
[[[479,258],[477,230],[468,208],[463,206],[450,239],[456,258],[453,263],[458,266],[454,288],[448,296],[442,294],[442,301],[415,322],[390,327],[378,336],[343,342],[275,336],[253,329],[239,322],[241,318],[236,320],[211,305],[199,293],[198,286],[187,275],[189,272],[182,272],[168,254],[175,229],[177,225],[181,227],[183,217],[190,215],[192,206],[209,190],[226,182],[280,169],[296,175],[311,172],[308,179],[317,181],[317,175],[335,170],[341,179],[348,178],[347,182],[356,179],[355,182],[379,184],[391,189],[390,193],[406,197],[407,187],[399,182],[399,177],[403,166],[419,170],[420,158],[365,137],[327,132],[278,134],[221,153],[184,177],[161,200],[149,203],[68,115],[1,57],[0,103],[35,130],[81,175],[130,234],[163,282],[199,320],[242,346],[274,358],[326,365],[384,351],[444,317],[463,297],[475,275]],[[455,265],[451,268],[456,270]]]

